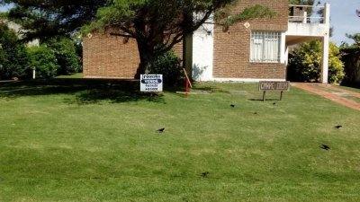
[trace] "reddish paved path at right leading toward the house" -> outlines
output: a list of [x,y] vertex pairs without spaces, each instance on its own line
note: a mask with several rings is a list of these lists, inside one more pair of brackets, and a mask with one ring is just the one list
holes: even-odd
[[312,92],[315,94],[319,94],[320,96],[329,99],[330,101],[335,101],[339,104],[342,104],[344,106],[347,106],[348,108],[354,109],[354,110],[360,110],[360,103],[356,101],[349,100],[345,97],[342,97],[338,94],[327,92],[324,90],[321,90],[317,86],[321,86],[323,88],[329,89],[330,91],[336,91],[336,92],[343,92],[346,93],[349,96],[355,96],[357,98],[360,98],[359,92],[351,92],[347,91],[345,89],[339,88],[337,86],[327,84],[327,83],[292,83],[294,87],[300,88],[302,90],[305,90],[307,92]]

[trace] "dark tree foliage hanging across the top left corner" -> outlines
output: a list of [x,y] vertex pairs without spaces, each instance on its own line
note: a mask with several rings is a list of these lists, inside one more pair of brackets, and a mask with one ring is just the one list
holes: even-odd
[[24,40],[49,39],[73,34],[94,20],[97,9],[107,0],[0,0],[13,4],[8,18],[22,25]]

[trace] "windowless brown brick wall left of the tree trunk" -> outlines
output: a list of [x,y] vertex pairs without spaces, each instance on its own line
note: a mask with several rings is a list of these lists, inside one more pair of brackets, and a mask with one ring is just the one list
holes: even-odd
[[139,66],[136,40],[94,35],[84,39],[84,77],[134,78]]

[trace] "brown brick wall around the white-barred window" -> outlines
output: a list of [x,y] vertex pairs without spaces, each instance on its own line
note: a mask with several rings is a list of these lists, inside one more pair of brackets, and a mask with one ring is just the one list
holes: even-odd
[[246,28],[245,22],[238,22],[222,31],[220,26],[215,27],[214,33],[214,61],[213,76],[215,78],[285,78],[284,64],[250,63],[251,31],[286,31],[288,20],[288,0],[242,0],[236,11],[246,6],[263,4],[277,13],[273,19],[253,19]]

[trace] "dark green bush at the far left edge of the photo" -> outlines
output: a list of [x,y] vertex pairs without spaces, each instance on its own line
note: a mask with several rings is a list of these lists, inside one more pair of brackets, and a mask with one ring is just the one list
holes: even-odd
[[0,79],[25,78],[28,57],[16,33],[0,23]]

